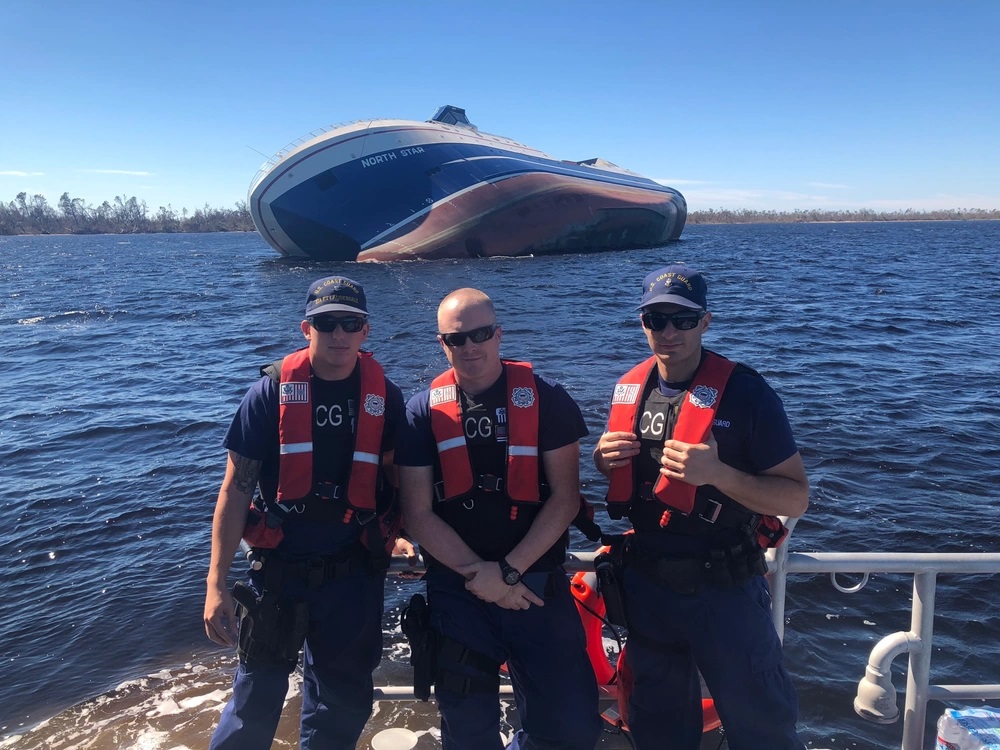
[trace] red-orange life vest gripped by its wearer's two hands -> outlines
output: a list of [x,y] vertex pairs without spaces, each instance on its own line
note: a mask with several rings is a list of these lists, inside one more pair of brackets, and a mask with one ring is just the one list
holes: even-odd
[[[669,438],[685,443],[703,443],[712,430],[715,413],[722,401],[729,376],[736,363],[710,351],[695,372],[687,398],[677,415],[677,424]],[[656,374],[656,357],[633,367],[615,386],[611,398],[611,415],[608,418],[609,432],[638,432],[639,409],[646,384]],[[635,479],[630,463],[611,470],[611,485],[608,489],[608,503],[629,503],[635,494]],[[694,509],[697,487],[679,479],[659,475],[653,487],[653,495],[668,508],[690,513]]]

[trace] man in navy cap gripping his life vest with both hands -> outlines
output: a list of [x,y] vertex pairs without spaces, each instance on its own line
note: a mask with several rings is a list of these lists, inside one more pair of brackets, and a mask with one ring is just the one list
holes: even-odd
[[652,356],[618,382],[594,462],[622,551],[628,724],[639,750],[696,750],[700,671],[731,750],[801,750],[798,701],[770,615],[763,550],[805,512],[809,482],[781,401],[754,370],[702,346],[700,273],[643,280]]

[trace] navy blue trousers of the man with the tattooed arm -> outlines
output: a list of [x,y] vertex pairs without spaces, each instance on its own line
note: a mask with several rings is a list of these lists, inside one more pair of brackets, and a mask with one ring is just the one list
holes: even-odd
[[[309,590],[286,582],[283,598],[309,604],[302,658],[302,750],[353,750],[372,712],[372,672],[382,658],[385,575],[359,571]],[[290,669],[240,664],[209,750],[268,750]]]

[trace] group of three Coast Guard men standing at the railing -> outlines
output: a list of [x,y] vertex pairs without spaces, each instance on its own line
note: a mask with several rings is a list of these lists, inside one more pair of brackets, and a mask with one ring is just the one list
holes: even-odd
[[[594,451],[609,514],[634,529],[623,558],[629,726],[640,750],[697,748],[700,671],[731,750],[800,750],[763,550],[783,539],[777,516],[805,511],[808,480],[774,391],[702,347],[706,297],[690,268],[646,277],[652,356],[619,381]],[[359,351],[367,313],[356,282],[314,283],[308,347],[262,371],[227,433],[212,640],[237,641],[226,577],[241,537],[263,566],[238,584],[240,666],[210,747],[270,747],[303,645],[301,746],[355,746],[381,656],[398,466],[407,533],[427,563],[445,750],[502,747],[502,663],[522,725],[514,746],[590,750],[597,686],[561,568],[580,509],[579,407],[530,364],[500,358],[493,303],[466,288],[438,308],[451,367],[404,416],[399,389]]]

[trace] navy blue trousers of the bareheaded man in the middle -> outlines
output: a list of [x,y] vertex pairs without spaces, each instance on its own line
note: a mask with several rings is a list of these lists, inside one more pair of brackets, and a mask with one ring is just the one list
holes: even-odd
[[[537,593],[549,575],[529,573],[525,582]],[[544,607],[516,611],[476,598],[465,590],[461,576],[440,566],[425,578],[433,627],[497,663],[507,662],[521,719],[519,746],[593,750],[601,731],[597,681],[566,575],[551,574]],[[460,665],[454,669],[475,674]],[[443,750],[503,748],[496,692],[463,696],[442,687],[435,695]]]

